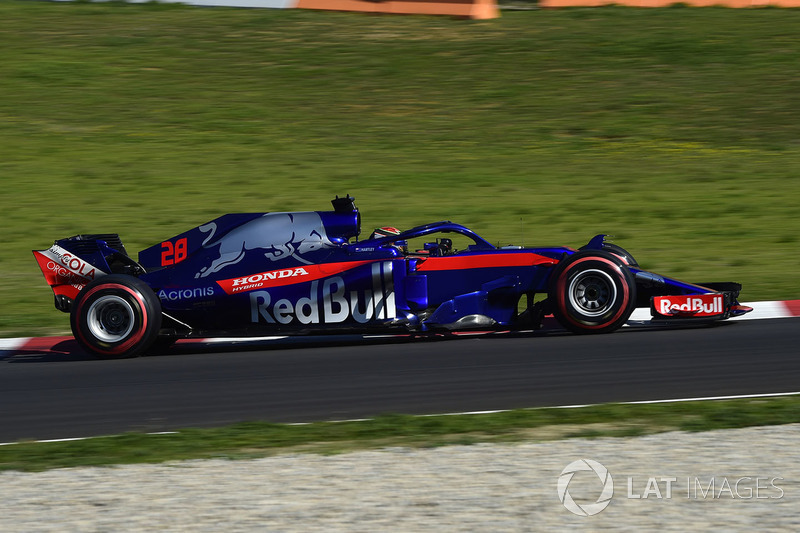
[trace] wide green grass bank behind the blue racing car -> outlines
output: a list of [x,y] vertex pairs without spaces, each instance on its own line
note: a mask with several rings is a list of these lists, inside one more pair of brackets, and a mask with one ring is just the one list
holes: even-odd
[[68,329],[30,254],[220,214],[615,235],[688,281],[798,298],[800,10],[491,21],[0,0],[0,335]]

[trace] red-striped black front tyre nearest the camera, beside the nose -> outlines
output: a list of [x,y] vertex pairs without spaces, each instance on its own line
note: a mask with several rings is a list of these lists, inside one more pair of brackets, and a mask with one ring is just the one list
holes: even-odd
[[553,272],[553,314],[574,333],[610,333],[636,308],[636,280],[617,255],[600,250],[573,254]]

